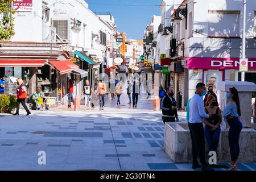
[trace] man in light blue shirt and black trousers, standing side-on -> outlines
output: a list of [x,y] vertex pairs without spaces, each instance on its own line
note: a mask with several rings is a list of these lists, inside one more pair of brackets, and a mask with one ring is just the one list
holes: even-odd
[[[205,141],[204,141],[204,127],[203,118],[212,117],[211,114],[205,113],[204,101],[201,96],[206,94],[205,84],[199,83],[196,85],[196,94],[191,98],[189,102],[189,131],[192,142],[192,168],[199,168],[203,171],[214,171],[209,167],[205,160]],[[197,156],[203,166],[197,162]]]

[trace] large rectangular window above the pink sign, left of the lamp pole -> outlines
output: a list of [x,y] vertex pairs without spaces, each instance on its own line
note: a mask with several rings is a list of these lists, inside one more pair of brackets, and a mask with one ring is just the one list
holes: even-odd
[[208,36],[240,36],[240,11],[208,11]]

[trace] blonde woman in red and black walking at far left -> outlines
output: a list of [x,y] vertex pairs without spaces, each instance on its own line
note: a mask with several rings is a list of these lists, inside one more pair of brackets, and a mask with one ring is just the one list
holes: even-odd
[[25,104],[25,99],[27,98],[27,88],[26,86],[23,84],[23,80],[22,78],[18,78],[17,79],[17,84],[18,84],[18,88],[17,88],[17,104],[16,104],[16,113],[13,115],[19,115],[19,104],[21,102],[22,106],[24,107],[24,109],[27,111],[26,115],[30,115],[30,110],[27,109],[27,106]]

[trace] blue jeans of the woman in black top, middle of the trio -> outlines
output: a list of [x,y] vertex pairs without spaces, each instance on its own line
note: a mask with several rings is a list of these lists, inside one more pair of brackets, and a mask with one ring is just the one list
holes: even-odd
[[218,127],[218,129],[215,131],[210,131],[210,129],[212,129],[212,127],[210,126],[204,127],[204,135],[207,138],[209,151],[217,151],[218,140],[220,139],[221,129],[220,127]]

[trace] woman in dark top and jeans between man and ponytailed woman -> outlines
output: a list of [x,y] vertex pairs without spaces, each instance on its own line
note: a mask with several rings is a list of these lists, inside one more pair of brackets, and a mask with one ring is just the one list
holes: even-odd
[[216,106],[216,98],[213,95],[209,95],[207,98],[205,112],[212,114],[209,119],[203,119],[205,123],[204,134],[205,138],[207,138],[208,148],[209,151],[217,151],[222,116],[221,109]]

